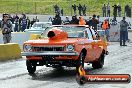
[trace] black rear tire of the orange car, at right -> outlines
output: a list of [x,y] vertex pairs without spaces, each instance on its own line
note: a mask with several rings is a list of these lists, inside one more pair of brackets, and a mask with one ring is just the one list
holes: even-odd
[[94,69],[102,68],[104,65],[104,58],[105,58],[105,55],[101,54],[98,61],[92,63],[92,67]]

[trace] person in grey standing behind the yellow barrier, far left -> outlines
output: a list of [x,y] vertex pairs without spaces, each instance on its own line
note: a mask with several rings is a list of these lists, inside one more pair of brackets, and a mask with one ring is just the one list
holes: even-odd
[[1,30],[3,34],[4,44],[10,43],[11,41],[11,32],[12,32],[12,23],[8,20],[8,14],[3,15],[3,20],[1,22]]

